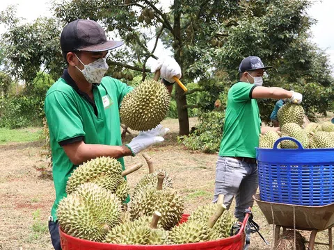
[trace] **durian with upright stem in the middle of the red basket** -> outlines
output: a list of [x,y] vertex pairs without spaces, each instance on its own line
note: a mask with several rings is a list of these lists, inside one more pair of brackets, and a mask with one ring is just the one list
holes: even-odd
[[159,224],[170,230],[182,217],[184,200],[173,190],[162,190],[163,182],[164,174],[159,173],[157,188],[138,193],[138,197],[132,199],[130,213],[132,219],[137,219],[141,215],[152,215],[157,210],[161,213]]

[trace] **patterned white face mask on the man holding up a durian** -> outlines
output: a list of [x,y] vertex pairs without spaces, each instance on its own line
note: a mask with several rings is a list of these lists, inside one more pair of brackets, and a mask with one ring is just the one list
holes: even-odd
[[[74,54],[75,55],[75,54]],[[75,55],[77,56],[77,55]],[[78,58],[78,56],[77,56]],[[79,58],[78,58],[79,59]],[[80,63],[81,60],[79,59]],[[84,63],[82,63],[84,65]],[[77,66],[75,66],[77,67]],[[104,74],[108,70],[109,66],[106,63],[106,58],[99,58],[95,60],[93,63],[89,63],[88,65],[84,65],[84,69],[79,69],[79,71],[84,75],[88,83],[101,83]]]

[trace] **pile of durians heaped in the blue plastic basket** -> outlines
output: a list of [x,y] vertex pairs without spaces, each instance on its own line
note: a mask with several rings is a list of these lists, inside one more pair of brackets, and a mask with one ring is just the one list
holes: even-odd
[[[259,147],[272,149],[278,138],[291,137],[301,142],[304,149],[334,148],[334,124],[310,122],[304,126],[304,117],[302,106],[294,103],[284,104],[277,114],[280,131],[268,131],[260,135]],[[278,148],[296,149],[297,145],[291,140],[283,140],[278,144]]]

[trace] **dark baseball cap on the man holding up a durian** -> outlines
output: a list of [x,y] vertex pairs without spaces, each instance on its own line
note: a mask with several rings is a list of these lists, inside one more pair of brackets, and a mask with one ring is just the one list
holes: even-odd
[[123,42],[106,40],[100,24],[93,20],[77,19],[67,24],[61,32],[61,50],[70,51],[108,51],[120,47]]

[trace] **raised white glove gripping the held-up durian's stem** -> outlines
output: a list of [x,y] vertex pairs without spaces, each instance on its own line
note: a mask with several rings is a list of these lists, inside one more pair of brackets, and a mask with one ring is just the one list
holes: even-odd
[[170,83],[175,82],[173,76],[176,76],[179,79],[182,76],[180,65],[174,58],[171,58],[169,56],[165,58],[159,58],[159,60],[157,60],[157,63],[152,66],[151,71],[152,73],[154,73],[158,69],[160,69],[161,78],[164,78]]

